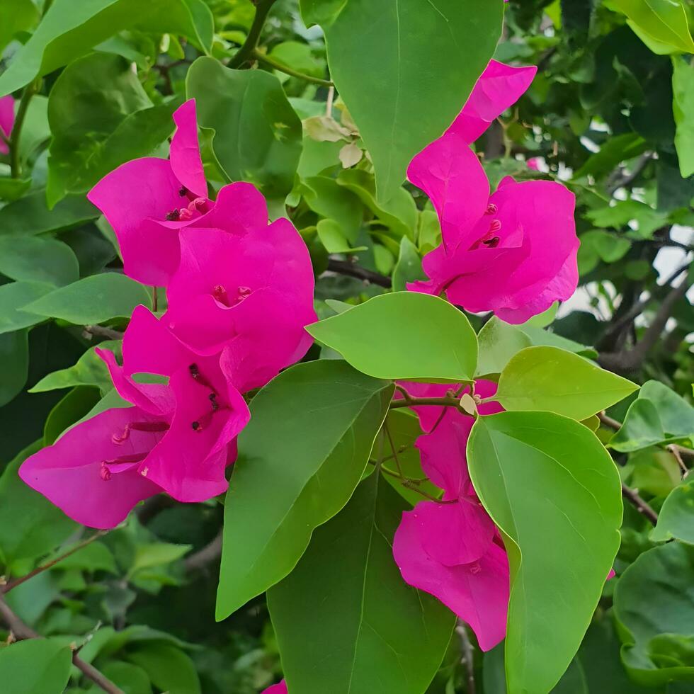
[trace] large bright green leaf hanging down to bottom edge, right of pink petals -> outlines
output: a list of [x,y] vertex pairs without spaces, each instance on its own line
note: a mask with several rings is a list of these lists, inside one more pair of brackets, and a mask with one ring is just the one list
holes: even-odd
[[467,460],[511,566],[508,690],[547,693],[576,654],[617,554],[617,469],[587,427],[549,412],[479,417]]

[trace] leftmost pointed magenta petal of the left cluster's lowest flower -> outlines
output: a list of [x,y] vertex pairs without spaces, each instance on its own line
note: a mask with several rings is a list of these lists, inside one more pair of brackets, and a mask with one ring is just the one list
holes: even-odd
[[161,435],[132,431],[123,443],[112,437],[132,421],[157,421],[137,407],[110,409],[75,426],[56,443],[29,457],[19,476],[67,516],[91,528],[113,528],[135,504],[161,489],[135,468],[101,477],[101,463],[123,455],[149,452]]

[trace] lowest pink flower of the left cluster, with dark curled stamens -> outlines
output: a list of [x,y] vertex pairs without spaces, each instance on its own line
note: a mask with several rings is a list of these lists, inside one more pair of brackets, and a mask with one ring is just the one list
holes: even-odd
[[[93,528],[113,528],[162,491],[188,502],[221,494],[250,414],[219,358],[191,353],[142,306],[125,331],[124,366],[97,353],[133,406],[98,414],[29,457],[24,482]],[[166,375],[169,384],[140,384],[138,372]]]

